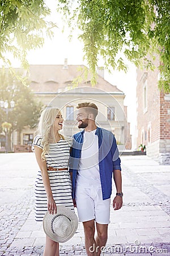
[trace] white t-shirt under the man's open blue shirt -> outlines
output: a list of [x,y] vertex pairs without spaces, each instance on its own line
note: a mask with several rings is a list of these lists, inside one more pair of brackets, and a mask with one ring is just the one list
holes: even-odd
[[101,187],[99,172],[99,142],[94,131],[84,131],[81,158],[79,160],[76,185]]

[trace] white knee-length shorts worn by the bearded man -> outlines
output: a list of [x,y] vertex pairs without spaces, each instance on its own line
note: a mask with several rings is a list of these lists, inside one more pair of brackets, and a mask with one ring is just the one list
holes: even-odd
[[79,221],[94,220],[99,224],[110,223],[111,199],[102,199],[101,188],[83,188],[76,186],[75,191],[76,208]]

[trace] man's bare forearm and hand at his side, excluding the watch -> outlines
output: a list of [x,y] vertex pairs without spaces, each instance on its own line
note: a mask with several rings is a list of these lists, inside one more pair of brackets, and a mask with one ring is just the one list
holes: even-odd
[[[113,171],[113,179],[116,185],[117,193],[121,193],[122,192],[122,175],[120,170]],[[122,196],[115,196],[113,199],[114,210],[120,209],[122,207],[122,203],[123,203]]]

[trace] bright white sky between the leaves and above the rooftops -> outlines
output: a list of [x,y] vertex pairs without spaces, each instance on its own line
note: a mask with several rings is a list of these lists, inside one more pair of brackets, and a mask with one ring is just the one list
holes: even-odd
[[[79,31],[75,30],[70,42],[70,29],[65,26],[63,31],[63,20],[61,15],[57,14],[55,0],[46,0],[46,5],[52,10],[48,20],[57,23],[52,39],[45,37],[44,46],[28,52],[27,60],[29,64],[64,64],[67,58],[68,65],[86,65],[83,60],[83,43],[78,40]],[[63,32],[62,32],[63,31]],[[14,63],[15,67],[17,63]],[[103,66],[103,61],[99,60],[99,66]],[[136,68],[133,64],[128,63],[128,72],[113,71],[109,74],[104,71],[104,79],[118,89],[122,90],[126,97],[124,105],[128,106],[128,122],[130,122],[130,133],[133,135],[132,143],[135,147],[135,125],[136,125]]]

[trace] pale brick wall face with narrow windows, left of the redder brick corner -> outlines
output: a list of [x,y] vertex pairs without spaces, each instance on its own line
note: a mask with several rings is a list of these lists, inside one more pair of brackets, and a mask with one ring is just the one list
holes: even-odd
[[[158,65],[158,60],[156,63]],[[146,85],[146,105],[144,88]],[[143,133],[143,142],[142,142]],[[158,141],[160,137],[160,93],[158,89],[158,70],[137,69],[137,147],[143,143]]]

